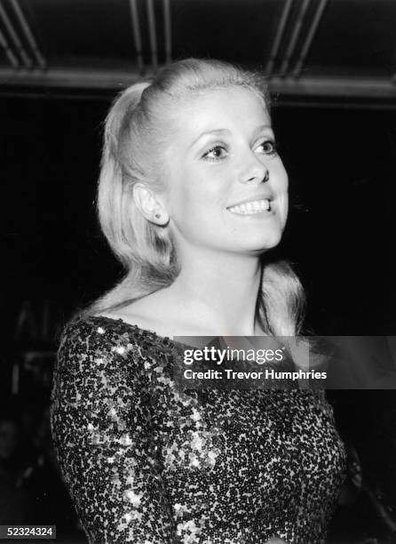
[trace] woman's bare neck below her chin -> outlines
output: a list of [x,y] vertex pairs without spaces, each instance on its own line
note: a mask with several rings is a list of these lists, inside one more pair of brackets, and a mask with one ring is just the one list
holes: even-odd
[[[262,267],[257,256],[201,253],[186,259],[167,289],[185,323],[194,321],[202,335],[258,334],[256,306]],[[186,300],[188,303],[186,304]]]

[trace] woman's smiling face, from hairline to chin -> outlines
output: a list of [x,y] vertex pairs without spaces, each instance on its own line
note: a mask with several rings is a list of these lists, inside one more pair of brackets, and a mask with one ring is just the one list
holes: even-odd
[[165,207],[178,252],[194,246],[253,255],[278,244],[288,176],[262,100],[230,87],[202,92],[176,111]]

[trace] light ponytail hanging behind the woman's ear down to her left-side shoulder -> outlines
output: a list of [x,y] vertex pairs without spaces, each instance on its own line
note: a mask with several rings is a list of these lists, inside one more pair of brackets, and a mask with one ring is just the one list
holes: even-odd
[[139,157],[131,157],[125,142],[136,138],[131,124],[133,116],[137,116],[142,93],[149,85],[145,82],[129,87],[115,100],[107,116],[97,209],[107,243],[125,273],[115,287],[80,315],[123,308],[172,284],[178,275],[169,233],[145,220],[131,197],[134,183],[144,180],[144,172]]

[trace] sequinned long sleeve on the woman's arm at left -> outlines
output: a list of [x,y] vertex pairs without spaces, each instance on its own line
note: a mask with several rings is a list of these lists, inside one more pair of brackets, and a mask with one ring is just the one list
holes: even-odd
[[69,325],[59,347],[52,436],[91,543],[176,541],[139,354],[126,335],[84,322]]

